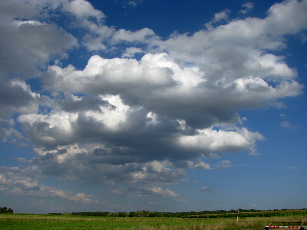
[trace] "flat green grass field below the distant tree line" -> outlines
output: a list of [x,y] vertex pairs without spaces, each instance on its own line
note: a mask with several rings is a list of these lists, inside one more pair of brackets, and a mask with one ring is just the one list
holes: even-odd
[[103,230],[239,230],[264,229],[272,221],[307,222],[306,216],[295,217],[247,217],[239,218],[137,218],[137,217],[81,217],[38,214],[1,214],[1,230],[62,230],[62,229],[103,229]]

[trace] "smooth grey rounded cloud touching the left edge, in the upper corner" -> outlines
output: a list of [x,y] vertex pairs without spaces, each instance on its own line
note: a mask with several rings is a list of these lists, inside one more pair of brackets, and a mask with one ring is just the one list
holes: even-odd
[[[37,66],[44,66],[50,57],[64,58],[78,46],[74,36],[56,25],[38,21],[12,21],[14,26],[1,25],[0,70],[14,71],[24,78],[37,75]],[[43,33],[42,33],[43,31]],[[10,39],[7,39],[7,38]]]

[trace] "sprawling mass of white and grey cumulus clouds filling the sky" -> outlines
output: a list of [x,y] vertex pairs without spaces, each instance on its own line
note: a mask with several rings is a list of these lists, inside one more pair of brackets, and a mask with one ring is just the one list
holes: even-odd
[[[34,144],[37,157],[30,163],[59,180],[111,187],[167,184],[184,177],[187,168],[210,169],[205,158],[238,151],[258,155],[257,141],[265,137],[244,127],[238,111],[278,107],[279,99],[299,95],[304,87],[277,53],[286,47],[285,36],[306,30],[306,0],[276,3],[263,19],[218,25],[228,20],[223,11],[206,29],[167,39],[148,28],[107,27],[104,13],[84,0],[21,3],[1,3],[7,10],[0,26],[10,39],[0,36],[0,137]],[[50,12],[73,21],[68,28],[56,25]],[[287,15],[287,23],[281,15]],[[72,28],[82,30],[74,34]],[[101,53],[91,55],[83,69],[61,66],[60,60],[78,48],[89,54],[118,52],[119,57]],[[135,53],[143,53],[142,58],[134,58]],[[30,78],[41,82],[40,92],[26,84]],[[12,194],[39,196],[41,191],[98,202],[83,193],[71,196],[53,188],[49,193],[36,179],[19,174],[0,175],[2,184],[16,186]],[[130,191],[178,196],[157,186]]]

